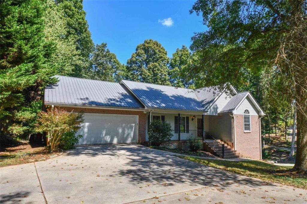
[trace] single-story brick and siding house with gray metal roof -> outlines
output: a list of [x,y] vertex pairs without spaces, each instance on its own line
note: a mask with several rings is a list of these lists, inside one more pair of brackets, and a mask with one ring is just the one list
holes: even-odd
[[164,120],[173,129],[173,144],[199,137],[206,144],[214,141],[212,148],[227,145],[261,159],[264,112],[249,92],[55,77],[57,84],[45,87],[44,107],[85,113],[80,144],[148,142],[150,121]]

